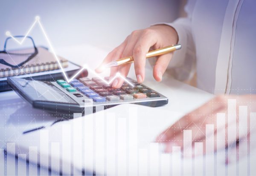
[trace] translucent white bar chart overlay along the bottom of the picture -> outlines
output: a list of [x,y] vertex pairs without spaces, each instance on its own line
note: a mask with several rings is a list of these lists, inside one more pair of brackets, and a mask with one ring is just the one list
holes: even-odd
[[[227,113],[217,113],[215,122],[202,127],[206,136],[202,140],[193,141],[193,129],[181,130],[183,139],[178,141],[181,145],[174,140],[172,153],[161,151],[161,143],[151,141],[145,145],[145,141],[139,141],[148,139],[139,138],[137,108],[130,108],[126,118],[97,107],[96,114],[82,117],[74,114],[73,121],[61,125],[59,142],[51,141],[49,130],[42,129],[40,145],[29,146],[28,153],[17,153],[15,142],[6,143],[6,153],[0,150],[0,172],[48,175],[50,166],[51,175],[82,174],[82,168],[77,171],[78,167],[72,166],[80,163],[85,172],[95,175],[255,175],[256,113],[250,112],[247,106],[237,107],[236,103],[235,99],[229,99]],[[229,142],[227,150],[226,142]],[[15,153],[16,161],[12,156]],[[235,158],[232,167],[225,163],[230,156]],[[27,170],[24,169],[26,159],[29,159]],[[223,169],[221,164],[226,167]]]

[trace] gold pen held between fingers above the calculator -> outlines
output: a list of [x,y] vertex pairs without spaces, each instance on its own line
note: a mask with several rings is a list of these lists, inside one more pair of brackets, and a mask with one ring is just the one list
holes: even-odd
[[[180,44],[166,46],[164,48],[159,48],[159,49],[156,49],[156,50],[153,50],[153,51],[149,51],[146,54],[146,58],[154,57],[154,56],[160,56],[162,54],[167,54],[167,53],[170,53],[170,52],[178,50],[178,49],[181,49]],[[133,56],[124,57],[124,58],[120,58],[118,60],[114,60],[112,62],[109,62],[107,65],[105,65],[105,67],[116,67],[118,65],[123,65],[123,64],[131,63],[131,62],[134,62]]]

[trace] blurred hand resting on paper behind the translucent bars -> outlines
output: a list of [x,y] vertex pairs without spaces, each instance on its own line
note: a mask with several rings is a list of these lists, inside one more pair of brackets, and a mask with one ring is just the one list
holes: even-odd
[[[236,120],[233,122],[229,122],[227,124],[227,102],[228,99],[236,99]],[[183,130],[192,130],[192,153],[194,142],[203,142],[204,150],[205,150],[205,125],[206,124],[214,124],[215,134],[214,139],[216,140],[216,114],[217,113],[226,113],[226,123],[225,127],[223,126],[223,131],[221,132],[223,135],[227,136],[227,125],[228,128],[236,128],[237,137],[240,138],[247,138],[247,136],[239,136],[239,132],[241,130],[244,131],[248,136],[250,133],[255,133],[256,131],[253,129],[247,128],[239,128],[238,130],[238,123],[239,123],[239,106],[245,105],[247,106],[248,116],[250,117],[250,112],[256,112],[256,95],[229,95],[224,96],[220,95],[209,102],[202,105],[200,108],[197,108],[195,111],[183,116],[180,120],[178,120],[174,125],[170,126],[168,129],[163,131],[158,137],[157,142],[163,142],[166,144],[165,151],[172,152],[172,146],[183,146]],[[237,122],[237,124],[236,124]],[[249,121],[248,121],[249,122]],[[250,126],[248,126],[250,128]],[[225,148],[228,144],[227,137],[225,146],[218,146],[218,148]],[[247,139],[244,139],[245,141]],[[230,142],[230,141],[229,141]],[[239,144],[240,146],[240,144]],[[255,146],[256,147],[256,146]],[[215,150],[217,146],[215,145]]]

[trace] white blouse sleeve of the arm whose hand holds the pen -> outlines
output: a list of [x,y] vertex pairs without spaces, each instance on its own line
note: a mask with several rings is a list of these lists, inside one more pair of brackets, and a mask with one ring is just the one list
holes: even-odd
[[178,34],[177,43],[181,44],[181,49],[174,52],[166,72],[182,81],[191,79],[195,73],[195,45],[191,30],[191,17],[195,1],[189,0],[186,4],[187,17],[178,18],[172,23],[157,23],[172,26]]

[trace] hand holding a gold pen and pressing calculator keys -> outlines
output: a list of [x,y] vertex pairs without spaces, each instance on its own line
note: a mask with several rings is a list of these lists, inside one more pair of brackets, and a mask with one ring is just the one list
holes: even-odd
[[[112,60],[122,57],[134,56],[134,68],[137,82],[141,83],[145,79],[145,60],[146,54],[152,47],[154,49],[162,48],[168,45],[177,44],[178,36],[174,28],[167,25],[156,25],[143,30],[133,31],[125,41],[113,49],[102,64],[96,68],[96,72],[100,73],[104,69],[104,65]],[[153,76],[157,81],[162,80],[162,75],[172,58],[172,53],[164,54],[158,57],[154,65]],[[119,65],[111,68],[110,77],[114,77],[119,72],[123,77],[128,75],[131,64]],[[123,83],[122,79],[113,81],[113,88],[120,88]]]

